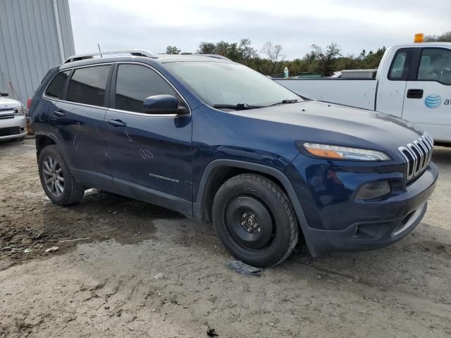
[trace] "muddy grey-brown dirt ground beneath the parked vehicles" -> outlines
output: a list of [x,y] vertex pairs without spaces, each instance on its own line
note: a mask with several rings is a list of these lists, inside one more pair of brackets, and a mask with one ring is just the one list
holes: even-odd
[[0,337],[451,337],[451,149],[433,161],[401,242],[315,261],[299,246],[246,277],[211,225],[93,189],[51,204],[34,140],[0,143]]

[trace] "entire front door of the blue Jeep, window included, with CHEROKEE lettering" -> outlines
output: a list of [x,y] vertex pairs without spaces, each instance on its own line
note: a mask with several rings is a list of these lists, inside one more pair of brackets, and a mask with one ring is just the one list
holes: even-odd
[[116,65],[105,118],[113,180],[122,194],[191,214],[191,116],[144,113],[144,99],[158,94],[185,104],[152,68]]

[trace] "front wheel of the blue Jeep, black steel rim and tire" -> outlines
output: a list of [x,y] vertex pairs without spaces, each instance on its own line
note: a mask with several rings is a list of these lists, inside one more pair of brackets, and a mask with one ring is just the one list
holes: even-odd
[[227,180],[216,192],[212,214],[223,246],[249,265],[277,265],[297,244],[299,226],[290,200],[266,177],[242,174]]

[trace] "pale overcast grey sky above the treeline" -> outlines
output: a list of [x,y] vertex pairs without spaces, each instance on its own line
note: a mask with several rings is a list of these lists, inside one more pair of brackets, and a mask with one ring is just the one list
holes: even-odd
[[75,51],[175,45],[194,52],[202,41],[253,46],[271,41],[288,59],[311,44],[337,42],[344,55],[412,42],[416,32],[451,30],[451,0],[69,0]]

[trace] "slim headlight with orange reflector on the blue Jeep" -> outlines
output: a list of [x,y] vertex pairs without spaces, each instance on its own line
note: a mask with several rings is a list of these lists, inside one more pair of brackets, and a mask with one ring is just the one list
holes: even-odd
[[348,146],[333,146],[330,144],[309,143],[300,144],[296,142],[297,146],[304,146],[311,155],[321,158],[333,158],[337,160],[352,160],[352,161],[390,161],[391,158],[382,151],[350,148]]

